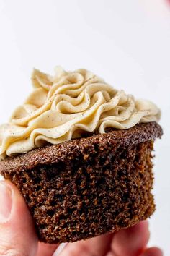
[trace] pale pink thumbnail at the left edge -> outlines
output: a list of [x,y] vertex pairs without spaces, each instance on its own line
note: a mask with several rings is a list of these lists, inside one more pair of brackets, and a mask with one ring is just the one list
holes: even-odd
[[9,219],[12,210],[12,189],[5,182],[0,182],[0,223]]

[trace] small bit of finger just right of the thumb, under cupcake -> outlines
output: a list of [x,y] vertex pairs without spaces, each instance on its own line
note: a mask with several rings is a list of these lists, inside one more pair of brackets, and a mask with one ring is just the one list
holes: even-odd
[[57,247],[57,244],[44,244],[39,242],[36,256],[51,256]]

